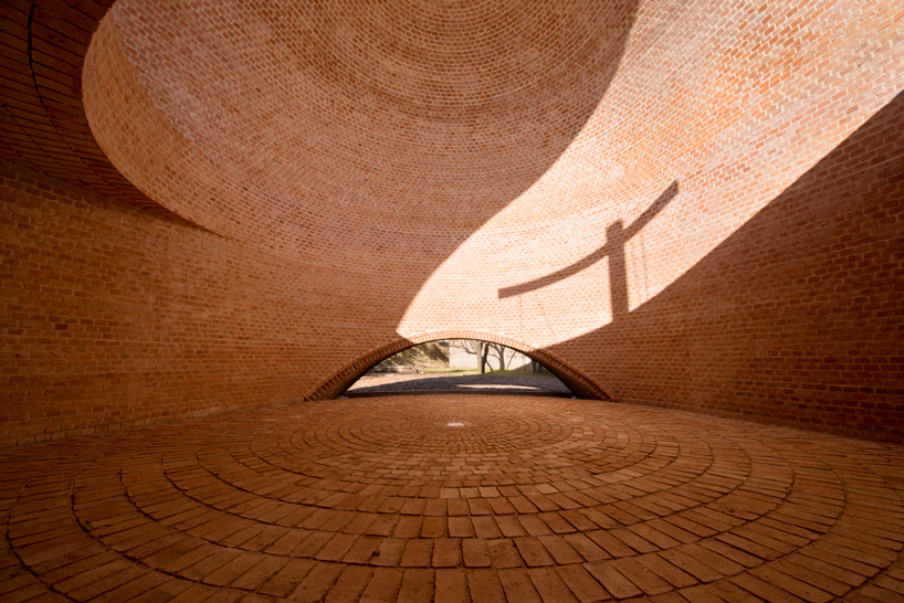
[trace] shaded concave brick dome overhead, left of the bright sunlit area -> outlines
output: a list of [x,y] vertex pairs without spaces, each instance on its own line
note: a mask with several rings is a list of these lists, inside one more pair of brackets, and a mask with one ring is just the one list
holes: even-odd
[[435,263],[586,125],[633,4],[123,0],[86,109],[127,178],[214,232],[317,263]]

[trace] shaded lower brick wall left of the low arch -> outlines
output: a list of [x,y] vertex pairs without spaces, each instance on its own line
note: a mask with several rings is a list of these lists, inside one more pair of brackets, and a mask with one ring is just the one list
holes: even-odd
[[327,278],[8,163],[0,202],[3,444],[301,400],[398,338],[403,305],[357,297],[379,277]]

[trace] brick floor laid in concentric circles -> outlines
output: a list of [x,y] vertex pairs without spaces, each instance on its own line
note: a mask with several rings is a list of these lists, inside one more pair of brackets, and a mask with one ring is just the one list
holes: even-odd
[[0,600],[904,600],[901,446],[560,398],[7,451]]

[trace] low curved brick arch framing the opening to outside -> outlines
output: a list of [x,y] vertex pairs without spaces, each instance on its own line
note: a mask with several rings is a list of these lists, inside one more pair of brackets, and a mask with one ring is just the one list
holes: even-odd
[[387,343],[376,350],[358,357],[353,362],[346,364],[327,380],[317,385],[314,391],[305,396],[305,400],[333,400],[341,395],[348,388],[351,387],[364,373],[402,350],[412,348],[420,343],[429,341],[439,341],[442,339],[480,339],[491,343],[502,343],[513,350],[517,350],[524,356],[540,362],[544,367],[549,369],[549,372],[558,377],[563,383],[575,392],[576,395],[585,400],[611,400],[600,387],[593,381],[569,367],[558,358],[548,352],[533,348],[527,343],[504,337],[482,331],[471,330],[443,330],[431,331],[419,335],[417,337],[401,338]]

